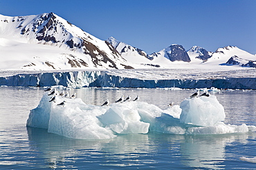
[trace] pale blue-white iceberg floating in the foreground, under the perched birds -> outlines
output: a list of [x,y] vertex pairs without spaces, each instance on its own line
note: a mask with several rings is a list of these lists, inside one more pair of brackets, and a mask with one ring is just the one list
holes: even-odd
[[[223,106],[215,96],[187,98],[181,106],[160,109],[140,101],[113,103],[109,106],[88,105],[80,98],[56,96],[49,102],[47,93],[30,111],[27,126],[48,129],[49,133],[77,139],[106,139],[118,134],[228,134],[256,131],[245,124],[226,125]],[[63,100],[64,106],[57,105]]]

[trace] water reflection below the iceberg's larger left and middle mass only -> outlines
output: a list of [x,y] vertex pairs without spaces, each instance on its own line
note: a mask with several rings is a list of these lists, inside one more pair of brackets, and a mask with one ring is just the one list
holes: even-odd
[[42,157],[49,168],[62,167],[63,162],[66,166],[74,162],[86,162],[86,166],[97,162],[98,165],[131,166],[138,164],[139,155],[150,152],[147,135],[124,135],[107,140],[76,140],[50,134],[46,129],[27,127],[27,131],[31,147],[43,153]]

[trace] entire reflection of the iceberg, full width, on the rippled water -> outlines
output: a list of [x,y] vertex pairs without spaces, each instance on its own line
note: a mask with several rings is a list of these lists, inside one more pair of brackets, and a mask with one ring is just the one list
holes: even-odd
[[[236,141],[246,145],[248,134],[184,136],[170,134],[121,135],[108,140],[76,140],[50,134],[46,129],[28,127],[30,147],[44,158],[45,167],[161,168],[168,166],[224,169],[226,146]],[[177,164],[181,162],[181,164]],[[84,164],[86,163],[86,165]],[[76,167],[74,167],[76,165]],[[166,164],[163,164],[166,167]],[[42,167],[43,168],[43,167]]]

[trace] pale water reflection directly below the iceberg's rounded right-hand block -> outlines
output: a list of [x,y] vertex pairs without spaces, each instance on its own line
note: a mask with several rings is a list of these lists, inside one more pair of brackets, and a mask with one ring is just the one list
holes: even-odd
[[238,139],[246,142],[247,138],[247,134],[185,136],[181,143],[181,154],[185,157],[182,162],[189,167],[223,169],[226,145]]

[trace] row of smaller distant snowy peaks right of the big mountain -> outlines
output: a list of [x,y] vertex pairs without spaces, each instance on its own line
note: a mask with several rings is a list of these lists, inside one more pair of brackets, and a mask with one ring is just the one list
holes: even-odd
[[[165,68],[177,67],[177,61],[179,62],[179,67],[188,67],[188,63],[190,66],[194,65],[194,67],[199,67],[200,65],[239,65],[242,67],[255,67],[256,61],[255,55],[235,46],[219,48],[215,52],[208,52],[203,47],[193,46],[186,52],[182,45],[174,44],[160,52],[147,54],[145,51],[128,45],[127,43],[117,41],[113,37],[110,37],[107,41],[130,63],[145,63],[147,65],[158,65],[158,67]],[[229,61],[232,60],[232,56],[239,56],[239,64],[233,64],[234,62]]]

